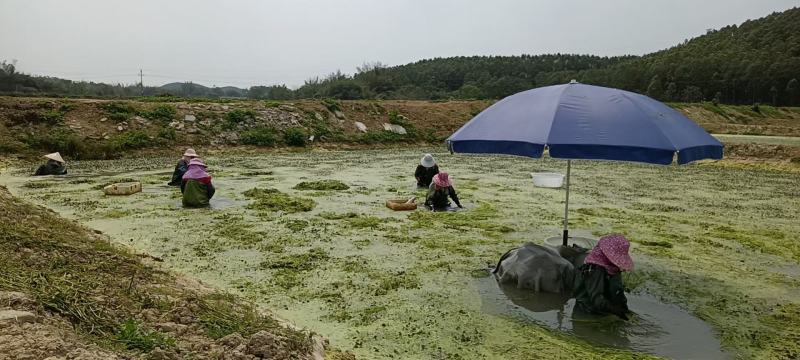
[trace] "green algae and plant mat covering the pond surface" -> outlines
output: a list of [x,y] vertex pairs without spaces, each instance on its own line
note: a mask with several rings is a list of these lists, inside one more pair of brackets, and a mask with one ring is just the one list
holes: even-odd
[[[424,152],[212,156],[209,209],[181,208],[164,185],[167,158],[73,162],[62,178],[17,168],[0,183],[361,358],[649,356],[487,311],[486,269],[511,247],[560,234],[563,191],[534,188],[529,173],[563,172],[564,162],[434,152],[467,209],[385,208],[424,196],[413,179]],[[628,236],[632,296],[702,319],[728,356],[800,356],[800,177],[719,165],[575,161],[571,228]],[[143,192],[97,190],[128,178]]]

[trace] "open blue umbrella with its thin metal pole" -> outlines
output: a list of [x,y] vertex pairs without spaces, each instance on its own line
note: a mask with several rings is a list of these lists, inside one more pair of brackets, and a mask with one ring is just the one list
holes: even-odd
[[546,86],[506,97],[447,139],[450,151],[567,159],[563,244],[569,229],[571,159],[687,164],[722,159],[722,143],[647,96],[600,86]]

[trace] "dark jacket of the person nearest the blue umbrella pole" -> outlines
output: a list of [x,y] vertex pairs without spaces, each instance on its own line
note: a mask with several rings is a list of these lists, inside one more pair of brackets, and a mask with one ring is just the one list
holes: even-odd
[[610,275],[602,266],[583,264],[575,274],[572,294],[576,307],[584,312],[628,318],[628,299],[625,297],[621,273]]

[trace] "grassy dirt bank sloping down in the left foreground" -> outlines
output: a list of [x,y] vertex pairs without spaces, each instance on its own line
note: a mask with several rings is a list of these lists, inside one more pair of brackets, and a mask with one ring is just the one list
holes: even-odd
[[0,358],[311,359],[313,334],[0,187]]

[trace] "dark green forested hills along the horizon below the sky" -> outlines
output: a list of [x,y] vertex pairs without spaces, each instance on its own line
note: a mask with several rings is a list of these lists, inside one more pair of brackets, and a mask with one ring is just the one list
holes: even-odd
[[548,54],[470,56],[386,67],[365,64],[353,75],[316,77],[296,90],[280,86],[160,88],[107,85],[14,72],[0,63],[0,93],[97,97],[142,94],[255,99],[497,99],[576,79],[645,93],[659,100],[800,105],[800,8],[773,13],[645,56]]

